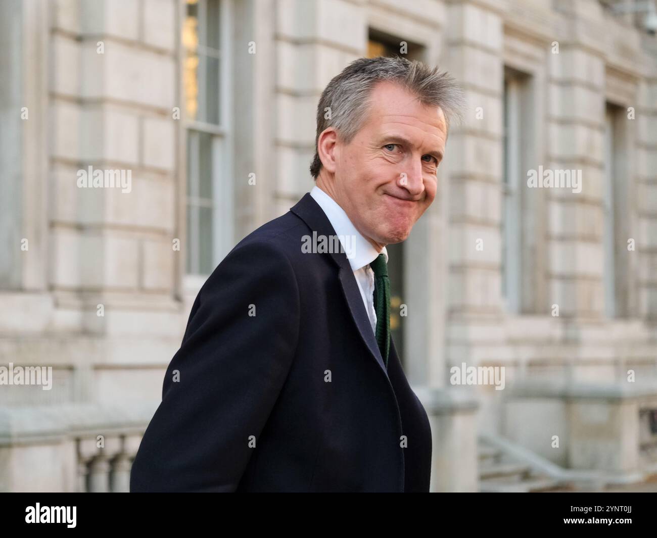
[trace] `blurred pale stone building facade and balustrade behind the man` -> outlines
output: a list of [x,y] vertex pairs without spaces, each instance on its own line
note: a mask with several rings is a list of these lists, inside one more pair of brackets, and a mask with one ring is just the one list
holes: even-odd
[[379,55],[467,100],[388,246],[432,490],[657,491],[656,29],[655,0],[0,0],[0,367],[52,368],[0,384],[0,491],[127,491],[200,286],[313,187],[319,95]]

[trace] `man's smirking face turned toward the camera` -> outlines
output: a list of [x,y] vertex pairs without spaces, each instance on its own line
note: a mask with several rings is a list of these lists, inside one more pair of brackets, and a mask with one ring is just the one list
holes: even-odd
[[401,85],[378,83],[354,139],[334,147],[334,196],[358,231],[377,244],[405,240],[436,197],[447,126]]

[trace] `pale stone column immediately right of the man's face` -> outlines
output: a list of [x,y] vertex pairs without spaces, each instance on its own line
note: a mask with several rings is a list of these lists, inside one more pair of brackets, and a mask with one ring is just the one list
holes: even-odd
[[[489,9],[486,9],[488,7]],[[497,3],[449,3],[446,67],[467,108],[448,140],[448,316],[501,313],[502,18]]]

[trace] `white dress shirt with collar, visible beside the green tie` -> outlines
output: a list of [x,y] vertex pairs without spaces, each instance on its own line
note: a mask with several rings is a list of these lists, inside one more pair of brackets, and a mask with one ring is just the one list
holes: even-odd
[[[338,205],[338,202],[328,196],[326,192],[322,191],[322,189],[315,185],[310,191],[310,196],[313,197],[315,202],[319,204],[319,207],[321,207],[324,213],[326,213],[328,221],[330,221],[336,235],[340,238],[340,243],[342,244],[344,251],[348,254],[352,254],[352,256],[348,256],[347,258],[349,259],[353,276],[356,278],[358,288],[361,291],[361,297],[363,298],[367,317],[369,317],[372,330],[374,334],[376,334],[376,313],[374,312],[374,271],[369,264],[373,262],[380,253],[377,252],[373,244],[365,239],[365,237],[363,237],[355,228],[347,216],[347,213],[345,213]],[[352,244],[350,245],[350,248],[348,248],[348,245],[344,244],[342,241],[342,238],[346,236],[351,236]],[[386,247],[383,248],[381,254],[386,257],[386,263],[388,263],[388,251],[386,251]]]

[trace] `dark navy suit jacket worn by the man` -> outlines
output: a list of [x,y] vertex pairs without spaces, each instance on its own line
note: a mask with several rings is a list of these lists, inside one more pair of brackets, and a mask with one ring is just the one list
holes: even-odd
[[429,490],[426,412],[346,254],[302,252],[313,231],[335,234],[306,194],[205,282],[130,491]]

